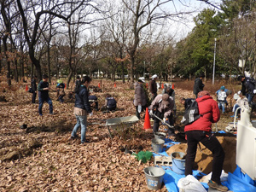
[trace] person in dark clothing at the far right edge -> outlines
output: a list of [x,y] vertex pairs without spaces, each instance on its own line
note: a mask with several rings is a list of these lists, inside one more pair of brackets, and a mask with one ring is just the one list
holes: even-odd
[[237,94],[240,95],[242,93],[243,96],[247,97],[248,103],[251,103],[253,96],[256,94],[255,80],[244,76],[239,76],[238,80],[241,81],[241,90],[239,90]]

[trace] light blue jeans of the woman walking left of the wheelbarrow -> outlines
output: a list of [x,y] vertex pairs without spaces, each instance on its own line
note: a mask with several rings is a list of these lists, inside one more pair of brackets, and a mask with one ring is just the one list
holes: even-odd
[[85,142],[85,134],[86,134],[86,126],[87,126],[87,115],[79,116],[76,115],[77,124],[73,127],[73,131],[71,136],[72,137],[78,137],[77,131],[79,129],[79,126],[81,125],[81,143]]

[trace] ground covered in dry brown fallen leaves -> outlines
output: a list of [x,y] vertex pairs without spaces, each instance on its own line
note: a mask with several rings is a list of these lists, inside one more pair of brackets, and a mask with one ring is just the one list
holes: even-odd
[[[95,86],[98,83],[92,82]],[[32,95],[25,91],[26,84],[19,86],[15,91],[1,93],[7,102],[0,102],[0,191],[148,191],[143,169],[154,162],[143,164],[119,148],[127,145],[136,153],[141,147],[152,151],[152,130],[143,130],[142,118],[129,130],[112,130],[111,140],[104,125],[106,119],[135,114],[134,90],[129,89],[128,83],[118,82],[114,88],[113,82],[102,82],[102,92],[95,93],[100,107],[105,94],[110,93],[116,98],[118,109],[114,113],[94,111],[88,118],[86,133],[90,143],[84,145],[79,139],[69,139],[76,123],[74,100],[65,96],[64,103],[56,101],[53,84],[50,97],[54,114],[49,114],[49,106],[44,103],[43,116],[39,116],[38,103],[31,103]],[[177,111],[181,114],[183,107],[178,99],[193,95],[188,90],[175,91]],[[231,114],[222,116],[218,130],[232,121],[228,118]],[[181,115],[177,122],[179,118]],[[21,129],[24,124],[27,128]],[[159,191],[167,190],[163,187]]]

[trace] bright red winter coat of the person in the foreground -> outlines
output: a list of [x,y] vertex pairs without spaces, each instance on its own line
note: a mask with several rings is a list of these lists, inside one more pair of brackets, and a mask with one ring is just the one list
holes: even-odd
[[212,123],[219,120],[218,103],[212,99],[212,96],[201,96],[195,100],[198,103],[201,117],[192,124],[186,125],[184,131],[212,131]]

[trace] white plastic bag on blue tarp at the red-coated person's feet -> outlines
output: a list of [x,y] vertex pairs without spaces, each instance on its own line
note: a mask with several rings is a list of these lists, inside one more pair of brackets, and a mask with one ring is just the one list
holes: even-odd
[[179,179],[177,187],[183,192],[207,192],[204,186],[192,175]]

